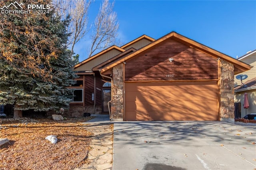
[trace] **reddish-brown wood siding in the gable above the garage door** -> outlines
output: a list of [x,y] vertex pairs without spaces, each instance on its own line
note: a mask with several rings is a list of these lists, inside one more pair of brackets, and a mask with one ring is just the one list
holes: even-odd
[[218,79],[218,60],[169,39],[126,61],[125,81],[182,79]]

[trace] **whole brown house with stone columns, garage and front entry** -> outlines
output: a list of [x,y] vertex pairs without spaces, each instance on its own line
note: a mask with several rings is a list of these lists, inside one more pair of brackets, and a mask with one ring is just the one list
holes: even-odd
[[250,65],[176,32],[112,46],[74,66],[69,113],[112,121],[234,122],[234,74]]

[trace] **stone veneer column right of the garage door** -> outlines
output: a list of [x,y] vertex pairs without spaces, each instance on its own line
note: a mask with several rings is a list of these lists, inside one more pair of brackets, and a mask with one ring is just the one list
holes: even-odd
[[220,121],[234,123],[234,65],[220,59]]

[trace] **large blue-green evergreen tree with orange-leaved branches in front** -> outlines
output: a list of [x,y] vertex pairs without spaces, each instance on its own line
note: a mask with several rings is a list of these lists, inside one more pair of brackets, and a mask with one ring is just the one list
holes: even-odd
[[[14,0],[0,2],[8,6]],[[23,4],[50,4],[50,0],[23,0]],[[26,5],[23,6],[24,10]],[[49,111],[68,107],[76,75],[67,50],[69,19],[54,9],[45,14],[1,14],[0,105],[13,104],[14,118],[22,110]]]

